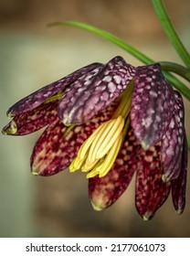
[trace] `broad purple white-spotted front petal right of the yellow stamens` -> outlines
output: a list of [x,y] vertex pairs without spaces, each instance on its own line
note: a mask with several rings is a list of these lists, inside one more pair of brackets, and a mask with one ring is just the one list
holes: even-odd
[[161,141],[174,112],[174,90],[159,64],[138,67],[132,91],[132,128],[144,148]]

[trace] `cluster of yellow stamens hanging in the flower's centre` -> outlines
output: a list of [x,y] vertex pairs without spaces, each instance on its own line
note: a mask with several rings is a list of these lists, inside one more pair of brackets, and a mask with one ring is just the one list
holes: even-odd
[[87,178],[106,176],[114,164],[130,124],[133,81],[121,95],[121,102],[111,120],[100,124],[80,146],[77,157],[69,166],[70,172],[81,168]]

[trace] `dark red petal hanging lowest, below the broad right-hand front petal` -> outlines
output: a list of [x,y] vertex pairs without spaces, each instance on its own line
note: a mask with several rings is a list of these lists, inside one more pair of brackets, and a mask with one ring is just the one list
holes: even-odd
[[137,158],[136,208],[144,220],[152,219],[170,193],[170,182],[162,180],[160,145],[142,148]]

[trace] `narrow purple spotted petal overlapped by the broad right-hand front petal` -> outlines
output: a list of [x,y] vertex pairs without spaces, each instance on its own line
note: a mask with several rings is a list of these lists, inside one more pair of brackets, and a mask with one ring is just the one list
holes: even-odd
[[164,166],[164,180],[177,178],[182,165],[185,110],[182,96],[178,91],[174,91],[174,97],[173,117],[162,140],[161,157]]

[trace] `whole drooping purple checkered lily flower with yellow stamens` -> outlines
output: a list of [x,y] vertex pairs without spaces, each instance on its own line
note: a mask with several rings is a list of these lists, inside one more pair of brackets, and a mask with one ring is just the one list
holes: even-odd
[[134,68],[121,57],[90,64],[16,102],[7,115],[5,134],[47,125],[31,156],[32,173],[86,172],[96,210],[121,197],[135,173],[143,219],[152,219],[170,192],[176,212],[184,211],[184,104],[159,64]]

